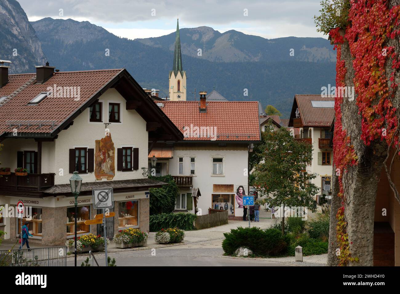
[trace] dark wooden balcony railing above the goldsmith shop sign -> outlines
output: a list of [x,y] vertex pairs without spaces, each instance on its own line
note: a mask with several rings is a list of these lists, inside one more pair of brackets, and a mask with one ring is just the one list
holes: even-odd
[[15,173],[0,176],[0,191],[31,191],[41,192],[54,185],[54,173],[28,173],[27,176],[17,176]]

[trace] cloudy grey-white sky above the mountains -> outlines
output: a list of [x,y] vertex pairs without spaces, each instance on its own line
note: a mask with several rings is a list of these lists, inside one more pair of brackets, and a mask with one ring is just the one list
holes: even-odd
[[[72,18],[130,39],[158,37],[180,28],[210,26],[264,38],[323,37],[314,15],[320,0],[18,0],[30,21]],[[61,11],[61,12],[60,12]],[[246,14],[245,16],[244,14]],[[62,16],[60,14],[62,13]]]

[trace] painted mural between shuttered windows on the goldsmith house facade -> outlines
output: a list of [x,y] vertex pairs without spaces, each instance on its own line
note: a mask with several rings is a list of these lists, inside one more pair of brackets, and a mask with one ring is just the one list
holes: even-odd
[[115,175],[115,147],[111,139],[111,133],[96,140],[96,149],[94,150],[94,176],[96,180],[112,180]]

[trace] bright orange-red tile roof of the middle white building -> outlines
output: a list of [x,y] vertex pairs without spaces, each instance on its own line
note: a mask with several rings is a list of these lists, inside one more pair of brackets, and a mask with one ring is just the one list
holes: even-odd
[[[156,101],[155,101],[156,102]],[[207,112],[200,113],[199,101],[164,101],[161,108],[184,133],[184,127],[216,127],[217,141],[258,141],[258,101],[207,101]],[[184,140],[209,140],[186,137]]]

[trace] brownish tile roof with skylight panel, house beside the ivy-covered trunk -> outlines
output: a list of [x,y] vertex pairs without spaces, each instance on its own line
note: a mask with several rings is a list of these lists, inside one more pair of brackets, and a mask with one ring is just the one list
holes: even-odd
[[334,101],[332,97],[321,97],[321,95],[294,95],[294,102],[290,119],[295,117],[296,104],[300,111],[304,127],[330,127],[335,117],[333,107],[312,107],[311,101]]

